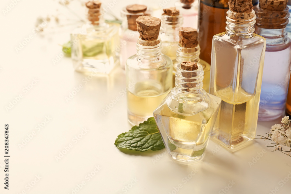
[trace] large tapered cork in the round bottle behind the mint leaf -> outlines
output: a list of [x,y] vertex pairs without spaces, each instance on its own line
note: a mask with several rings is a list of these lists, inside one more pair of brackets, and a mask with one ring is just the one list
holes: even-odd
[[142,15],[136,19],[136,24],[140,38],[144,40],[143,46],[154,46],[160,42],[159,40],[157,41],[161,27],[159,18]]

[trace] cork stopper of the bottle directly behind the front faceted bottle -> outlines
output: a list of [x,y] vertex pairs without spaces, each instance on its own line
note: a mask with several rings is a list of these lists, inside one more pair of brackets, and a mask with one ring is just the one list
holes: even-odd
[[193,48],[198,46],[198,32],[194,28],[183,28],[179,30],[179,43],[184,48]]

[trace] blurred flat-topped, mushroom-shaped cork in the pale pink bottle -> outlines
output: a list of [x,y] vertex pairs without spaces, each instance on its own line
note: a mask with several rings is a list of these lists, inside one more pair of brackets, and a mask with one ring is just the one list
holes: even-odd
[[141,15],[146,15],[144,12],[148,9],[147,6],[133,4],[133,5],[126,6],[125,9],[127,10],[128,13],[130,13],[130,14],[126,15],[128,29],[132,30],[132,31],[137,31],[137,26],[136,26],[135,20]]

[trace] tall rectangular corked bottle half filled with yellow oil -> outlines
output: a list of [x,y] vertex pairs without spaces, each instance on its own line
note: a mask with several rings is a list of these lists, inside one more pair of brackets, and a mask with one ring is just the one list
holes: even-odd
[[230,0],[227,14],[212,42],[210,94],[222,100],[212,138],[235,151],[255,138],[266,40],[253,33],[251,0]]

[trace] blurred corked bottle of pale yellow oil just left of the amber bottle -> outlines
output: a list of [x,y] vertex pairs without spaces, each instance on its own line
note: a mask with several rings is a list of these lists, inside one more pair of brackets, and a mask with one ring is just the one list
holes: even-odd
[[179,44],[179,28],[183,23],[183,18],[180,11],[172,7],[164,9],[161,19],[162,53],[174,60]]

